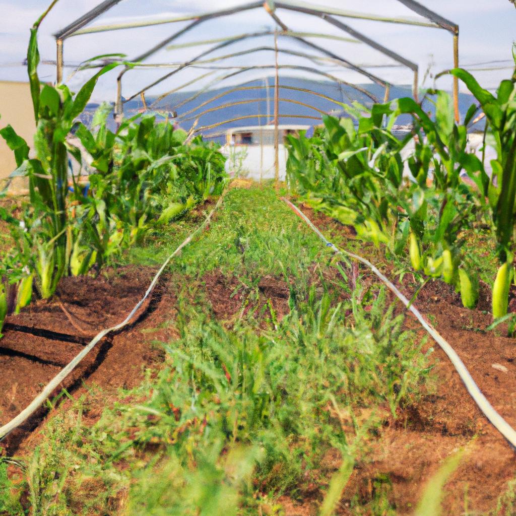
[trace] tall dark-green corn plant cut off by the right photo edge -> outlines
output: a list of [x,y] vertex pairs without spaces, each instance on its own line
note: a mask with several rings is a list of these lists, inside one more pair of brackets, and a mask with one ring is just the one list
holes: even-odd
[[[516,63],[516,46],[513,47]],[[514,208],[516,199],[516,69],[510,79],[502,80],[496,96],[483,89],[469,72],[451,70],[460,78],[482,107],[486,118],[485,145],[496,150],[491,160],[491,178],[483,172],[479,176],[480,195],[488,199],[498,241],[497,254],[501,265],[493,285],[493,317],[507,313],[509,287],[514,277]],[[483,170],[483,169],[482,169]]]

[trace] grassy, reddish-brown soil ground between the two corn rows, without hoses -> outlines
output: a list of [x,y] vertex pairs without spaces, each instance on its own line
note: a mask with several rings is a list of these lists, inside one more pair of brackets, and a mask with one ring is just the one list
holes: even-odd
[[[202,506],[208,514],[317,514],[344,471],[337,514],[412,514],[459,449],[443,487],[445,513],[513,510],[513,452],[444,353],[368,270],[336,262],[272,187],[245,186],[228,191],[142,316],[103,342],[63,385],[65,394],[2,443],[13,458],[0,465],[2,513]],[[134,304],[211,207],[131,249],[97,279],[63,281],[57,296],[65,310],[37,301],[8,322],[44,320],[40,326],[77,335],[68,313],[93,334]],[[334,243],[360,248],[389,275],[407,267],[382,260],[351,228],[304,211]],[[414,291],[410,274],[400,287]],[[426,284],[415,303],[516,423],[512,340],[486,331],[491,318],[481,304],[463,308],[440,281]],[[80,347],[33,337],[27,349],[15,333],[2,341],[1,387],[10,390],[2,422]]]

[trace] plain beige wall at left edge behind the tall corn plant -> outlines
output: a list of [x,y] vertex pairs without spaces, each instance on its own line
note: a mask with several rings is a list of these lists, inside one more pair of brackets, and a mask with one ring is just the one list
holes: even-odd
[[[34,110],[28,83],[0,81],[0,127],[11,124],[29,147],[33,147]],[[14,153],[0,137],[0,180],[16,168]]]

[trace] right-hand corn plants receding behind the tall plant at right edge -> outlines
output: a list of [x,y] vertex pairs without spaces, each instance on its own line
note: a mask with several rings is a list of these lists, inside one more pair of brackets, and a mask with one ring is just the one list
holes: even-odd
[[[470,109],[463,125],[456,124],[449,95],[432,93],[434,120],[413,99],[370,110],[348,106],[356,123],[326,117],[323,138],[289,139],[287,167],[291,184],[313,207],[352,224],[360,238],[381,242],[394,254],[404,253],[408,245],[415,270],[454,284],[465,305],[473,307],[476,285],[464,266],[459,269],[458,237],[481,205],[460,179],[466,171],[482,180],[480,160],[466,152],[466,126],[476,108]],[[398,141],[391,129],[401,114],[412,116],[414,129]],[[400,151],[411,138],[415,150],[407,166],[413,181],[405,184]]]

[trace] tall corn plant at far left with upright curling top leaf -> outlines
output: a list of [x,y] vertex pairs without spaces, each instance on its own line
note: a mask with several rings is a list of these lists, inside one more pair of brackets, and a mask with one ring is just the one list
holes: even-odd
[[[52,6],[54,4],[55,2]],[[102,68],[80,88],[75,96],[65,85],[41,86],[37,70],[39,64],[37,34],[49,10],[31,28],[27,52],[30,92],[36,120],[34,136],[36,157],[29,158],[27,143],[10,125],[0,131],[0,135],[14,151],[17,169],[11,175],[27,176],[29,181],[31,221],[29,233],[20,236],[30,240],[30,247],[36,253],[30,265],[31,269],[36,271],[38,289],[43,298],[52,296],[58,281],[67,272],[69,265],[67,151],[70,147],[66,138],[75,118],[86,107],[99,77],[118,66],[115,62]]]

